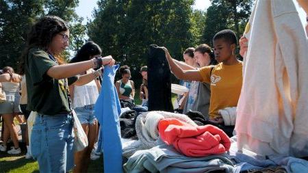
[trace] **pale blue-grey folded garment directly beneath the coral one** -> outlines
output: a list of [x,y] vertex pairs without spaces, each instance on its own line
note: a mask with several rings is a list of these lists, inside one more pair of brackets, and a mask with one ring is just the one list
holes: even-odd
[[208,157],[185,157],[166,144],[149,150],[138,150],[124,165],[126,172],[233,172],[233,163],[227,154]]

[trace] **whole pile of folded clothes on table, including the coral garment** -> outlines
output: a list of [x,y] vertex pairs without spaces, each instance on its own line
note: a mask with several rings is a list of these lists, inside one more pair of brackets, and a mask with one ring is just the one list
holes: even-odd
[[[125,172],[308,172],[308,161],[265,157],[238,150],[228,137],[200,114],[166,111],[120,115]],[[199,116],[196,116],[199,115]]]

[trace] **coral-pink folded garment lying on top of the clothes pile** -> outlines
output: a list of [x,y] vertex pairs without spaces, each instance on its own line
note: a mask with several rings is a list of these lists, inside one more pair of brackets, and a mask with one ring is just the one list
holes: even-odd
[[158,131],[166,144],[188,157],[222,154],[231,146],[228,135],[212,125],[193,127],[181,120],[166,118],[159,121]]

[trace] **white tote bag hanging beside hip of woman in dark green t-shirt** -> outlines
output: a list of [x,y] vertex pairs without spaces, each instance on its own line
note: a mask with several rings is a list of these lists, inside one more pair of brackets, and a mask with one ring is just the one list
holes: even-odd
[[73,131],[75,134],[75,141],[74,141],[74,150],[75,152],[84,150],[88,146],[88,137],[86,133],[84,133],[84,129],[82,129],[82,126],[79,122],[79,119],[73,110],[73,118],[74,118],[74,127]]

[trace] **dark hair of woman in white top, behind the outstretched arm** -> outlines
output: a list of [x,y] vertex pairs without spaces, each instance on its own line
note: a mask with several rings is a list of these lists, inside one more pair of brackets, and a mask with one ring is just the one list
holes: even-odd
[[95,42],[89,41],[86,42],[81,48],[77,51],[77,54],[73,59],[70,60],[70,63],[73,62],[84,62],[90,59],[94,55],[101,55],[101,48]]

